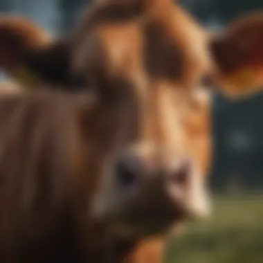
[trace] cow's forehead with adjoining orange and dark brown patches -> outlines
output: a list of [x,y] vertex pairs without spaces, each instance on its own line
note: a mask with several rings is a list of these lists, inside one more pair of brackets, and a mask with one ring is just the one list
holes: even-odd
[[[161,80],[170,82],[171,87],[180,87],[185,71],[183,48],[158,21],[143,25],[129,21],[99,26],[94,31],[107,74],[129,76],[141,84],[144,79],[144,85],[148,86],[152,81]],[[89,56],[84,55],[91,41],[90,37],[87,39],[80,44],[83,48],[76,49],[79,69],[89,60]]]

